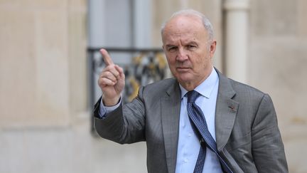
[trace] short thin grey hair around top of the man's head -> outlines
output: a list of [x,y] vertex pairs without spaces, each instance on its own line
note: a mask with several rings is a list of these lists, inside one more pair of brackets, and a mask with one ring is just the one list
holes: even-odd
[[[185,10],[181,10],[181,11],[177,11],[175,13],[173,13],[173,15],[171,16],[170,19],[168,19],[168,21],[170,21],[171,19],[173,19],[176,16],[198,16],[202,21],[203,21],[203,26],[205,26],[205,29],[208,31],[208,40],[212,40],[214,33],[213,33],[213,26],[210,23],[209,19],[202,13],[195,11],[193,9],[185,9]],[[163,36],[163,31],[164,28],[166,26],[166,23],[168,23],[168,21],[164,22],[161,26],[161,36]]]

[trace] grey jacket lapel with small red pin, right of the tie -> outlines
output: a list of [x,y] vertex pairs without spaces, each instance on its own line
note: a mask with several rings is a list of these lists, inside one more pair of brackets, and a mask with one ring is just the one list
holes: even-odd
[[217,140],[217,150],[221,151],[227,144],[232,128],[235,125],[235,117],[237,115],[239,103],[232,100],[235,96],[235,90],[232,89],[230,80],[218,70],[217,73],[220,78],[220,83],[215,110],[215,137]]

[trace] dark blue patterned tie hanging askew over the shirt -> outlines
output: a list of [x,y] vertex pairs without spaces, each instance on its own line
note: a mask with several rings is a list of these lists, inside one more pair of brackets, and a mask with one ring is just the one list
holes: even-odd
[[195,90],[190,90],[188,93],[188,116],[192,123],[192,127],[194,132],[200,138],[200,152],[198,154],[198,159],[195,164],[194,173],[201,173],[203,172],[203,166],[205,163],[205,153],[206,153],[206,146],[217,154],[217,158],[220,159],[220,163],[222,165],[222,169],[227,173],[232,173],[230,167],[226,164],[224,159],[220,157],[220,154],[217,152],[217,147],[215,140],[211,136],[207,122],[205,120],[205,116],[203,115],[203,111],[195,104],[195,100],[200,96]]

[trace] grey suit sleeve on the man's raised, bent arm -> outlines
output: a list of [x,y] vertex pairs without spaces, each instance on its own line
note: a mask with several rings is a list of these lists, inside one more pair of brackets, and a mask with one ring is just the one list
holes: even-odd
[[131,103],[119,105],[117,109],[107,113],[105,118],[99,118],[100,100],[95,105],[95,127],[97,133],[119,144],[134,143],[145,140],[145,108],[142,98],[144,88],[139,89],[139,95]]

